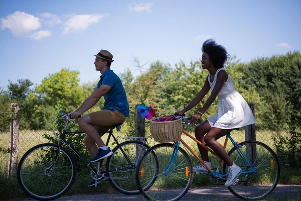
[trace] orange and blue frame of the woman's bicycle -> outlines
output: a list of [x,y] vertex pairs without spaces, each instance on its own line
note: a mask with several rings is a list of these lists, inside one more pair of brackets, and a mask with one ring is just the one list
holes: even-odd
[[[196,138],[194,138],[192,135],[190,135],[189,133],[187,133],[185,130],[182,130],[182,133],[184,133],[186,136],[188,136],[189,138],[191,138],[192,140],[194,140],[197,144],[201,145],[203,148],[205,148],[206,150],[208,150],[209,152],[211,152],[213,155],[215,155],[216,157],[219,158],[219,162],[218,162],[218,166],[217,166],[217,169],[215,171],[213,171],[212,169],[210,169],[208,167],[208,165],[206,165],[206,163],[196,154],[196,152],[194,152],[186,143],[185,141],[180,137],[180,139],[175,142],[175,149],[174,149],[174,152],[172,154],[172,157],[170,159],[170,163],[169,165],[166,167],[165,169],[165,174],[169,174],[169,171],[171,169],[171,167],[174,165],[175,161],[176,161],[176,157],[177,157],[177,153],[178,153],[178,150],[179,150],[179,146],[180,146],[180,143],[182,143],[203,165],[204,167],[206,167],[206,169],[213,175],[214,178],[223,178],[223,177],[226,177],[228,176],[228,173],[226,174],[220,174],[219,173],[219,168],[221,166],[221,163],[222,163],[222,159],[213,151],[211,150],[210,148],[208,148],[207,146],[205,146],[203,143],[201,143],[199,140],[197,140]],[[238,143],[236,143],[232,137],[231,137],[231,134],[227,134],[226,135],[226,139],[225,139],[225,142],[224,142],[224,149],[226,148],[227,146],[227,142],[228,142],[228,139],[230,139],[230,141],[232,142],[232,144],[237,147],[237,151],[238,151],[238,154],[240,155],[240,157],[242,158],[243,162],[245,163],[246,166],[250,167],[250,170],[249,171],[245,171],[243,170],[241,173],[242,174],[247,174],[247,173],[251,173],[251,172],[256,172],[256,168],[252,167],[252,165],[249,163],[249,161],[247,160],[247,158],[245,157],[245,155],[242,153],[242,151],[240,150],[240,146]],[[225,178],[223,178],[225,179]]]

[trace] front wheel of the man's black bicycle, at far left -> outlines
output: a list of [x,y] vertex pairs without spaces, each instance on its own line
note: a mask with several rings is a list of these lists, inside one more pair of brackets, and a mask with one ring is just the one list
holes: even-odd
[[[63,147],[59,156],[57,144],[45,143],[28,150],[18,165],[18,182],[22,190],[34,199],[52,200],[62,196],[75,179],[75,162]],[[53,167],[51,167],[54,164]]]

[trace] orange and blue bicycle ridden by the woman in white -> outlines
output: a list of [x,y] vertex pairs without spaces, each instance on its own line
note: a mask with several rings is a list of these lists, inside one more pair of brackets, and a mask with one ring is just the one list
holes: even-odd
[[[181,118],[183,124],[189,124],[190,117]],[[183,134],[215,155],[219,159],[217,168],[210,169],[181,137],[173,144],[162,143],[150,147],[140,158],[136,168],[137,185],[146,199],[179,200],[189,190],[194,175],[193,165],[190,156],[180,147],[181,144],[208,169],[211,183],[227,180],[228,167],[225,163],[222,165],[221,158],[186,131],[183,130]],[[233,148],[228,155],[236,165],[241,167],[242,173],[228,189],[235,196],[245,200],[256,200],[267,196],[276,187],[280,175],[279,161],[273,150],[258,141],[237,143],[230,133],[226,136],[224,148],[229,140]],[[154,153],[156,158],[153,157]],[[154,164],[156,164],[155,168]],[[152,183],[152,186],[149,187],[149,183]]]

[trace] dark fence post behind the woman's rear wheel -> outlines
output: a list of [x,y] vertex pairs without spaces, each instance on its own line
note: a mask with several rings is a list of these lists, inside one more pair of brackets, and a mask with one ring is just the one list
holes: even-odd
[[[249,107],[252,110],[252,113],[255,117],[255,109],[254,109],[254,104],[249,104]],[[255,141],[256,140],[256,130],[255,130],[255,124],[251,124],[248,126],[245,126],[245,137],[246,137],[246,141],[252,140]],[[249,160],[249,162],[251,163],[251,165],[254,163],[254,159],[257,156],[257,151],[256,151],[256,146],[252,146],[252,145],[246,145],[246,157]]]

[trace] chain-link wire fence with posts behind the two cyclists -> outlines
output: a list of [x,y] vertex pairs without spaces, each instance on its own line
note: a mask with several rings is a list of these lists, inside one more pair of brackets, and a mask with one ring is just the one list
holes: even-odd
[[[254,106],[250,105],[253,112]],[[22,108],[22,110],[25,110]],[[0,171],[8,172],[8,175],[14,174],[17,170],[17,164],[21,157],[35,145],[41,143],[49,142],[47,136],[54,136],[53,127],[56,128],[55,124],[48,124],[50,120],[59,117],[59,113],[40,113],[37,118],[35,114],[30,116],[24,115],[18,104],[12,104],[11,111],[0,112]],[[208,118],[209,115],[206,114],[203,120]],[[46,122],[46,123],[45,123]],[[184,129],[194,136],[194,126],[186,126]],[[74,124],[71,129],[80,130],[77,124]],[[115,132],[115,131],[114,131]],[[153,139],[149,132],[149,121],[142,120],[138,110],[135,113],[130,114],[130,117],[124,122],[122,129],[119,133],[115,132],[116,136],[121,137],[136,137],[145,136],[146,141],[149,146],[158,144]],[[255,130],[255,125],[250,125],[245,128],[240,128],[239,130],[234,130],[231,132],[231,136],[236,142],[243,142],[245,140],[257,140],[263,142],[274,149],[274,143],[272,140],[273,136],[276,135],[286,135],[285,131],[275,132],[275,131],[265,131],[265,130]],[[85,134],[75,134],[72,138],[77,141],[80,140],[83,147],[83,139]],[[69,138],[72,140],[72,138]],[[107,135],[104,135],[102,139],[105,141]],[[196,152],[198,152],[197,144],[189,137],[182,135],[182,139]],[[225,138],[218,140],[219,143],[223,144]],[[120,138],[119,138],[120,140]],[[121,139],[126,140],[126,139]],[[72,142],[70,142],[72,144]],[[113,147],[112,147],[113,148]],[[232,148],[232,144],[228,143],[226,151]],[[78,150],[84,156],[89,157],[86,149]],[[194,165],[198,161],[193,160]]]

